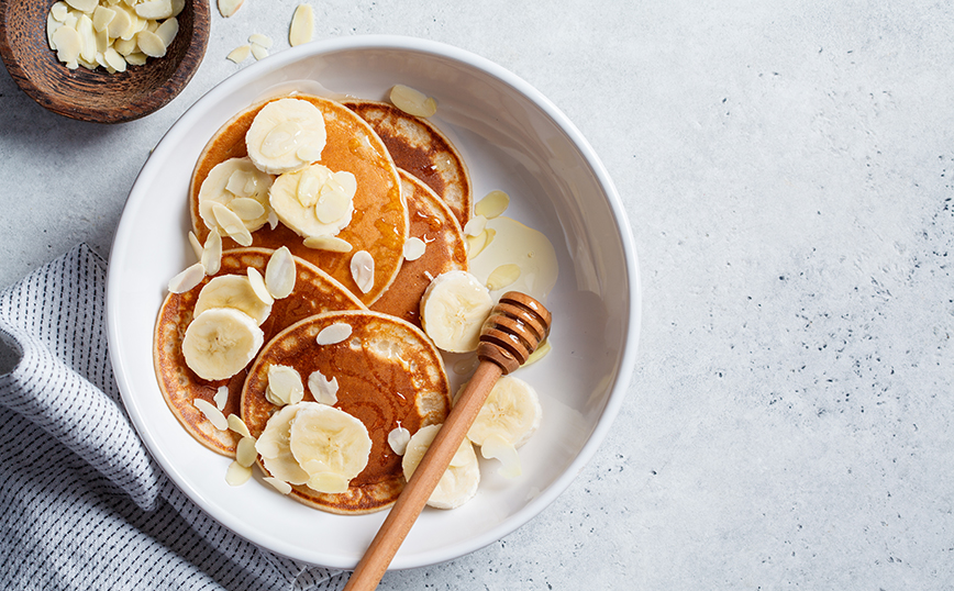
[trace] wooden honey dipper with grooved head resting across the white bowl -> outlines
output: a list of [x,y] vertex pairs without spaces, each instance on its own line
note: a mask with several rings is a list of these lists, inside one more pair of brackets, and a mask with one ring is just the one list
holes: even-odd
[[520,367],[550,333],[551,314],[530,296],[504,293],[480,331],[480,365],[437,432],[410,482],[368,546],[344,591],[370,591],[388,570],[401,543],[451,464],[487,394],[501,375]]

